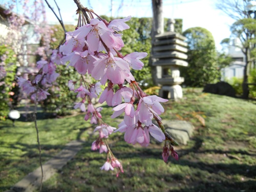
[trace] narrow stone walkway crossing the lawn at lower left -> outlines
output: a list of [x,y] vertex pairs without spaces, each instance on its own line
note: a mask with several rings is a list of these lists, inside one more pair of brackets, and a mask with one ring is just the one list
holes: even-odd
[[[79,150],[82,148],[83,141],[75,140],[71,141],[66,147],[58,153],[54,158],[47,161],[42,165],[44,171],[43,182],[52,177],[58,169],[61,169],[64,165],[71,160]],[[10,190],[5,192],[32,192],[40,187],[41,182],[41,167],[38,167],[34,172],[29,173],[22,180],[17,182]]]

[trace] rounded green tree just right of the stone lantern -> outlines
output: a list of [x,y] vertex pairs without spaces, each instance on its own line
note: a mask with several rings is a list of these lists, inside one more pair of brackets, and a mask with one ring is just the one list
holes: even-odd
[[217,62],[217,51],[212,34],[204,28],[194,27],[183,32],[188,44],[188,67],[181,68],[184,84],[202,87],[220,79],[221,73]]

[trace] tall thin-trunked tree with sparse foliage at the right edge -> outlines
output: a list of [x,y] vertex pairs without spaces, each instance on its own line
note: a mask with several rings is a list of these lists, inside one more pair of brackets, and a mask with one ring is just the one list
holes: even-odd
[[[231,37],[239,38],[241,41],[241,50],[245,55],[245,67],[243,77],[243,97],[248,98],[248,71],[250,64],[255,58],[255,31],[256,22],[252,18],[252,11],[248,9],[249,0],[219,0],[217,8],[222,10],[228,16],[236,20],[231,26]],[[255,17],[255,12],[254,12]]]

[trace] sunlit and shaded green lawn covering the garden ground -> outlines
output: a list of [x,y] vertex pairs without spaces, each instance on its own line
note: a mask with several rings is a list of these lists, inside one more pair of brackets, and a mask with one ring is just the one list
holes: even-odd
[[[185,89],[180,101],[164,103],[163,119],[181,119],[196,130],[186,146],[177,147],[180,160],[161,158],[162,144],[130,145],[123,134],[110,137],[124,174],[101,171],[105,154],[91,151],[97,135],[83,115],[38,120],[42,158],[53,157],[74,139],[84,147],[74,159],[46,181],[42,191],[253,191],[256,188],[256,105],[241,99]],[[102,116],[111,115],[105,108]],[[196,115],[201,117],[195,118]],[[198,117],[198,116],[197,116]],[[202,118],[205,126],[202,125]],[[117,126],[118,121],[106,119]],[[0,122],[0,191],[6,190],[38,166],[33,122]]]

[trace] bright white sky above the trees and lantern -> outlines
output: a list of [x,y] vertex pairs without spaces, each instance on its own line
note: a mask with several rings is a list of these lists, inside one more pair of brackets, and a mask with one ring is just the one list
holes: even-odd
[[[44,1],[44,0],[42,0]],[[60,8],[63,22],[74,23],[77,9],[73,0],[55,0]],[[203,27],[214,36],[216,47],[221,50],[220,42],[230,36],[229,28],[234,22],[222,11],[216,9],[217,0],[163,0],[164,17],[182,18],[183,31],[191,27]],[[0,3],[6,2],[0,0]],[[48,0],[58,10],[54,0]],[[113,16],[152,17],[151,0],[80,0],[84,7],[92,8],[98,15],[111,16],[111,2],[113,3]],[[57,19],[46,5],[48,21],[57,23]]]

